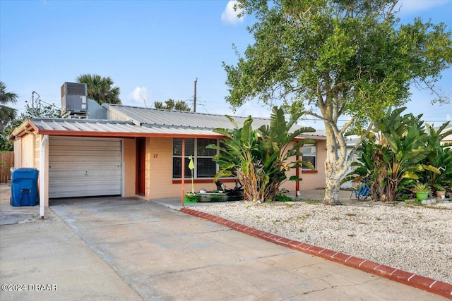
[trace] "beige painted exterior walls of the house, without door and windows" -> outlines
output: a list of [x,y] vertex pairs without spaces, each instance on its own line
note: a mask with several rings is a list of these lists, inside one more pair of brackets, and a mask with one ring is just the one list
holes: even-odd
[[[36,139],[36,140],[35,140]],[[16,140],[15,146],[15,162],[16,167],[36,167],[40,169],[40,180],[44,180],[44,206],[49,204],[49,143],[47,142],[44,161],[44,178],[42,177],[42,166],[40,166],[42,135],[25,135],[21,139]],[[136,139],[124,138],[123,140],[123,168],[124,168],[124,197],[140,197],[142,199],[158,199],[165,197],[181,197],[182,185],[173,183],[172,180],[172,138],[146,138],[146,155],[145,155],[145,195],[136,195]],[[308,190],[314,188],[323,188],[325,186],[325,172],[323,162],[326,159],[326,142],[317,141],[317,171],[316,173],[302,173],[300,176],[303,180],[299,183],[300,190]],[[296,170],[292,169],[287,173],[290,177],[295,175]],[[186,178],[184,184],[184,192],[191,191],[191,178]],[[226,183],[228,188],[233,188],[234,183]],[[194,183],[194,190],[201,189],[214,190],[215,184],[207,181],[207,183]],[[290,190],[291,195],[296,193],[295,182],[287,181],[283,188]]]

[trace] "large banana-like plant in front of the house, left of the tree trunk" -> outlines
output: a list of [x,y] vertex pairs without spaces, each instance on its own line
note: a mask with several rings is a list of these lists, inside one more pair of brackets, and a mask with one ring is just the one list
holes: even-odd
[[257,130],[251,126],[251,116],[246,118],[242,128],[230,116],[227,118],[234,125],[232,130],[214,130],[227,139],[221,140],[220,146],[208,146],[220,151],[213,159],[220,166],[215,180],[235,173],[249,201],[261,203],[274,200],[286,180],[302,180],[297,176],[287,178],[286,171],[291,168],[304,164],[314,169],[312,164],[299,159],[304,143],[312,141],[297,140],[297,136],[315,131],[314,128],[292,128],[299,116],[285,121],[283,109],[273,107],[270,125],[262,125]]

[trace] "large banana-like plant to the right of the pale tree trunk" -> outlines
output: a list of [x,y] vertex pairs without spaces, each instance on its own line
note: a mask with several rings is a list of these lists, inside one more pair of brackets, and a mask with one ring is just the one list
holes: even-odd
[[[441,174],[432,163],[444,148],[435,153],[434,144],[429,141],[439,138],[427,135],[420,120],[422,115],[400,115],[404,110],[389,110],[384,118],[374,122],[374,133],[363,140],[361,156],[352,164],[356,167],[355,171],[342,182],[366,178],[367,183],[371,184],[374,200],[392,202],[398,192],[410,188],[423,174]],[[447,176],[447,173],[444,174]]]

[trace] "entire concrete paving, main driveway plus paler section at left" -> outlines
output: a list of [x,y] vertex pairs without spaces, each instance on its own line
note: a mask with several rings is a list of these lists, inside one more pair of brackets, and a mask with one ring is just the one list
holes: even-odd
[[[1,206],[0,216],[39,211]],[[155,202],[61,199],[51,208],[44,220],[0,226],[0,282],[28,289],[1,300],[445,299]]]

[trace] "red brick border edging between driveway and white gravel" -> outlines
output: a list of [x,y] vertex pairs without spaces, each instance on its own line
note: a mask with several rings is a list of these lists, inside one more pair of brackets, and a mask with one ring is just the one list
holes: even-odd
[[365,271],[376,276],[388,278],[389,280],[392,281],[397,281],[399,283],[410,285],[414,288],[427,290],[427,292],[452,299],[452,284],[449,283],[437,281],[417,274],[408,273],[406,271],[391,268],[391,266],[377,264],[375,262],[370,262],[369,260],[353,257],[347,254],[335,252],[328,249],[323,249],[321,247],[316,247],[315,245],[308,245],[307,243],[299,242],[297,240],[283,238],[278,235],[260,231],[255,228],[244,226],[240,223],[235,223],[233,221],[223,219],[222,217],[215,216],[213,214],[207,214],[205,212],[196,211],[194,209],[189,209],[185,207],[180,209],[180,211],[186,214],[197,216],[201,219],[213,221],[222,226],[232,228],[236,231],[254,236],[256,238],[261,238],[263,240],[267,240],[268,242],[273,242],[277,245],[289,247],[290,249],[311,254],[316,257],[321,257],[323,259],[328,259],[331,260],[332,262],[337,262],[345,266],[350,266],[354,269],[359,269],[361,271]]

